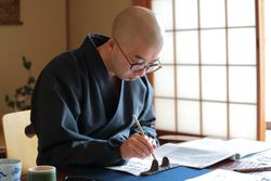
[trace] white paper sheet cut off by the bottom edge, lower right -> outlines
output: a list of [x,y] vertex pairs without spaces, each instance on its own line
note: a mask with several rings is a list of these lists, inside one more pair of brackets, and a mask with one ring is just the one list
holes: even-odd
[[210,171],[206,174],[202,174],[199,177],[189,179],[186,181],[233,181],[233,180],[242,180],[242,181],[269,181],[259,176],[253,176],[247,173],[240,173],[230,170],[217,169]]

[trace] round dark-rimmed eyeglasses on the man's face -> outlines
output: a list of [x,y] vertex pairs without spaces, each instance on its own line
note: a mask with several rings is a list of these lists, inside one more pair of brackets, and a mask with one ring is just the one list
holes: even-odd
[[130,61],[128,60],[127,55],[125,54],[125,52],[122,51],[122,49],[120,48],[119,43],[117,42],[117,40],[114,38],[115,42],[117,43],[120,52],[124,54],[126,61],[130,64],[130,70],[131,72],[141,72],[143,69],[146,70],[146,74],[147,73],[153,73],[153,72],[156,72],[158,69],[162,68],[162,64],[160,62],[157,60],[155,63],[153,64],[147,64],[145,65],[144,63],[130,63]]

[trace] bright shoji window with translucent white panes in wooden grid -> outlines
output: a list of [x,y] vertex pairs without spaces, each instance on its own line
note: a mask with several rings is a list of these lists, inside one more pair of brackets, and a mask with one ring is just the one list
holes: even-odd
[[163,69],[153,77],[158,130],[264,139],[259,4],[152,0],[166,29]]

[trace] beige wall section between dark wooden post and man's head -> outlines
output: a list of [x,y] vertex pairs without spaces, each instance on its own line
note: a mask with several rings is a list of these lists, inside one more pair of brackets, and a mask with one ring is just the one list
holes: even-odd
[[132,0],[69,0],[69,48],[77,48],[88,33],[111,35],[114,17]]

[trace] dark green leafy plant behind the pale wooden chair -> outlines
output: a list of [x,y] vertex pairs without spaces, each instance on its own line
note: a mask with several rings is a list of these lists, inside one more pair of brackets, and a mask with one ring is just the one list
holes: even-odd
[[7,94],[4,98],[7,105],[14,111],[30,108],[31,94],[36,82],[36,78],[31,75],[31,62],[25,56],[22,56],[22,63],[28,73],[27,81],[25,85],[16,88],[13,96]]

